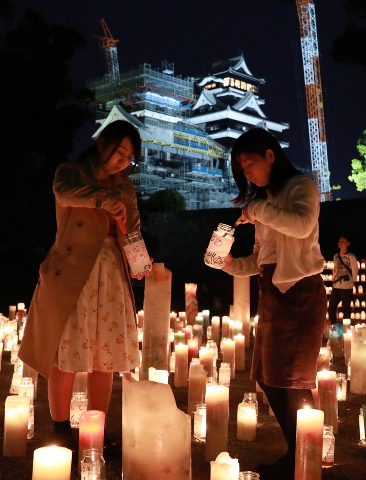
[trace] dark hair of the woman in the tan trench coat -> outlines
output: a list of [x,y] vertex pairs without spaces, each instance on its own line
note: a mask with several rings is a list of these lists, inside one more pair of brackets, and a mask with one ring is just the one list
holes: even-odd
[[[133,167],[136,166],[140,160],[140,152],[141,152],[141,138],[138,130],[130,124],[130,122],[126,122],[125,120],[115,120],[108,124],[99,134],[98,139],[102,138],[104,140],[104,145],[106,147],[111,147],[111,154],[112,156],[116,149],[118,148],[120,142],[125,138],[128,137],[131,140],[133,149],[134,149],[134,160],[133,160]],[[98,158],[98,139],[97,141],[89,146],[78,158],[77,162],[82,162],[86,157],[90,155]],[[128,169],[130,167],[127,167]],[[127,169],[125,169],[126,171]]]

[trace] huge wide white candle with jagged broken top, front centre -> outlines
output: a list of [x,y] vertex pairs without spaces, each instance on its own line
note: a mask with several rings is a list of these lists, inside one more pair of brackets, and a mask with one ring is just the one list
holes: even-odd
[[170,385],[122,377],[123,478],[190,480],[191,424]]

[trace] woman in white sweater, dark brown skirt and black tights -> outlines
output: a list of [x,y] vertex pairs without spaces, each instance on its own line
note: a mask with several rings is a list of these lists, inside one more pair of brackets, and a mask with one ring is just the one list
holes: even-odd
[[261,480],[294,477],[297,410],[314,408],[316,363],[327,297],[318,243],[320,195],[296,170],[268,131],[253,128],[235,140],[231,167],[242,218],[255,224],[253,254],[228,255],[223,270],[259,274],[258,327],[250,378],[256,380],[285,436],[288,451],[258,465]]

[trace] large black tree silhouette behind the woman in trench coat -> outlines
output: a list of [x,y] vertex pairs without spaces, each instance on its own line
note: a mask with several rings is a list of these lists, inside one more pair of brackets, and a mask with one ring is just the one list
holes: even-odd
[[2,2],[0,288],[3,298],[16,304],[29,301],[24,292],[34,288],[54,239],[56,165],[68,159],[76,136],[93,117],[92,93],[74,87],[70,76],[70,62],[86,46],[84,36],[72,27],[47,24],[35,9],[14,18],[14,3]]

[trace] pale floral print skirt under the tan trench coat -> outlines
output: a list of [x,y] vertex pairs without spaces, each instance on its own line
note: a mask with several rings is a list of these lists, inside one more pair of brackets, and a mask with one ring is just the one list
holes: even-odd
[[140,363],[128,273],[107,238],[69,317],[55,366],[63,372],[120,372]]

